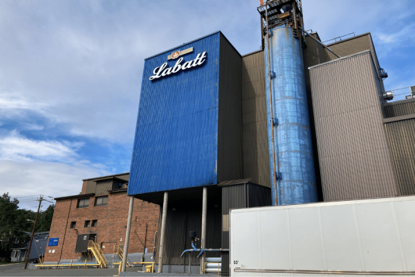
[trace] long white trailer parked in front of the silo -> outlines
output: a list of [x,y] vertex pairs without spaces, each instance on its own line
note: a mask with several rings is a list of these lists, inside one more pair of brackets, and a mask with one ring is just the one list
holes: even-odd
[[415,197],[230,211],[231,276],[414,276]]

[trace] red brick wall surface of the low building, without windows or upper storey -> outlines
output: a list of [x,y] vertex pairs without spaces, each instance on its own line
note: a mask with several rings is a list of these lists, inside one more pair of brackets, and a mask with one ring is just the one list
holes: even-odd
[[[77,208],[77,199],[57,200],[49,238],[59,238],[59,244],[57,247],[46,247],[45,261],[77,259],[81,256],[81,253],[75,253],[77,235],[86,233],[96,233],[97,242],[102,242],[104,253],[113,253],[115,245],[124,245],[127,231],[124,226],[127,226],[129,199],[125,192],[113,193],[109,194],[107,206],[94,206],[95,197],[91,197],[88,208]],[[98,226],[84,228],[85,220],[91,220],[91,223],[92,220],[98,220]],[[76,222],[77,231],[70,229],[73,221]],[[128,253],[144,251],[146,224],[146,247],[148,252],[152,252],[154,233],[158,227],[158,205],[134,199]],[[49,253],[49,250],[55,250],[55,253]]]

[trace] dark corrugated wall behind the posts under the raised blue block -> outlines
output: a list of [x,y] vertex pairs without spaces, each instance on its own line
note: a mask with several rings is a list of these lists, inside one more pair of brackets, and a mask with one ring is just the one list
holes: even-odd
[[[202,228],[202,209],[192,205],[187,207],[177,207],[169,204],[167,212],[167,224],[165,231],[165,253],[163,255],[164,265],[189,265],[189,256],[192,265],[200,265],[200,258],[197,258],[199,252],[186,253],[180,258],[185,249],[192,249],[189,233],[196,231],[198,238],[201,237]],[[176,208],[176,211],[172,211]],[[161,218],[163,206],[160,206],[158,217],[158,233],[160,234]],[[208,207],[208,218],[206,222],[206,247],[221,248],[221,208]],[[156,249],[160,247],[160,236],[157,236]],[[197,248],[201,247],[200,241],[196,244]],[[205,252],[206,257],[220,257],[220,252]],[[158,253],[156,255],[158,264]]]

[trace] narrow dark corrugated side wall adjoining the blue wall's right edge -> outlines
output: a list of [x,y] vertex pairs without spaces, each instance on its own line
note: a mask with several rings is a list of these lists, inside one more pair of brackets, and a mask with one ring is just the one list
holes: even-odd
[[222,34],[219,55],[218,182],[243,178],[242,58]]

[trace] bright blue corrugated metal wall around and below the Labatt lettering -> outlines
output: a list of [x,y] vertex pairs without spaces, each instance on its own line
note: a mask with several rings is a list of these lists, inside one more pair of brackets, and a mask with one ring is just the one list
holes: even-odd
[[[128,195],[206,186],[217,181],[220,33],[145,61]],[[207,52],[201,65],[149,80],[177,50],[184,62]]]

